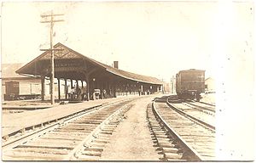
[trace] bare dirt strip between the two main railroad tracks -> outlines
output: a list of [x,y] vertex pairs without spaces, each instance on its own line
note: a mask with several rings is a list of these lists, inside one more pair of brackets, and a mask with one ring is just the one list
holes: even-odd
[[147,105],[152,99],[138,99],[125,113],[126,119],[113,132],[101,160],[159,160],[146,118]]

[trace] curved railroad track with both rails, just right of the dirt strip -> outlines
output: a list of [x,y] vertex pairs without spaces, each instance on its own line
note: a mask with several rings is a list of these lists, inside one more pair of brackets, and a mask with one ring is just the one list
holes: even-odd
[[149,126],[163,159],[214,160],[215,127],[169,105],[166,98],[156,99],[154,116],[148,111]]

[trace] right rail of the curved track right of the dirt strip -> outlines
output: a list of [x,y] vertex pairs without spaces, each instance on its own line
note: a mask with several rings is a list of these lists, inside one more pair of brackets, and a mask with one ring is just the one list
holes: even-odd
[[204,126],[204,127],[206,127],[207,129],[211,130],[212,132],[215,132],[215,126],[212,126],[212,125],[208,124],[208,123],[205,122],[205,121],[201,121],[201,120],[199,120],[198,118],[195,118],[194,116],[191,116],[191,115],[185,113],[184,111],[177,109],[175,106],[173,106],[173,105],[168,101],[168,98],[166,98],[166,104],[168,104],[168,106],[171,107],[173,110],[177,111],[177,113],[179,113],[180,115],[186,116],[186,117],[188,117],[189,119],[191,119],[191,120],[195,121],[196,123],[200,124],[201,126]]

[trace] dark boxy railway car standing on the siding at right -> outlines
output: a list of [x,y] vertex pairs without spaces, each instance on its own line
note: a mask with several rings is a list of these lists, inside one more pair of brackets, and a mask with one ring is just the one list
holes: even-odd
[[176,93],[178,98],[200,101],[205,91],[205,70],[180,70],[176,75]]

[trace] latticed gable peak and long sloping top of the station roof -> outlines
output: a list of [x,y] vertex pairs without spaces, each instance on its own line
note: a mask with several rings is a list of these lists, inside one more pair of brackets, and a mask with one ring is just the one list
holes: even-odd
[[[137,82],[145,82],[145,83],[150,83],[150,84],[162,84],[159,79],[152,77],[152,76],[143,76],[143,75],[138,75],[135,73],[131,73],[125,70],[119,70],[116,68],[113,68],[109,65],[102,64],[101,62],[96,61],[95,59],[90,59],[89,57],[84,56],[81,53],[78,53],[74,51],[71,48],[67,48],[67,46],[61,44],[60,42],[55,44],[55,48],[61,48],[61,51],[55,52],[55,59],[84,59],[87,62],[90,62],[90,64],[99,67],[103,70],[105,70],[108,74],[113,74],[115,76],[119,76],[125,79],[137,81]],[[16,70],[17,73],[19,74],[27,74],[27,75],[39,75],[37,68],[37,62],[42,59],[49,59],[50,58],[50,53],[49,52],[44,52],[41,55],[39,55],[36,59],[33,59],[31,62],[28,64],[24,65],[21,67],[19,70]]]

